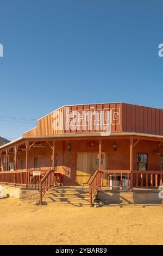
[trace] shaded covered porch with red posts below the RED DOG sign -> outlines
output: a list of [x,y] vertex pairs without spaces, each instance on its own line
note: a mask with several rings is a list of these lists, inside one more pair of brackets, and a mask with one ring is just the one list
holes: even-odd
[[123,188],[126,176],[130,190],[158,188],[162,153],[161,138],[147,136],[22,138],[1,147],[0,182],[30,187],[53,170],[56,186],[82,185],[99,170],[102,186],[112,179],[117,187],[119,179]]

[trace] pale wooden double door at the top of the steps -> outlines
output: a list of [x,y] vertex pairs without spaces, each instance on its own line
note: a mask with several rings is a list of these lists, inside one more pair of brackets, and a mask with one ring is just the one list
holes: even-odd
[[[102,153],[102,169],[107,167],[107,154]],[[79,185],[87,182],[93,170],[98,169],[98,154],[97,152],[78,152],[77,153],[77,172],[76,182]]]

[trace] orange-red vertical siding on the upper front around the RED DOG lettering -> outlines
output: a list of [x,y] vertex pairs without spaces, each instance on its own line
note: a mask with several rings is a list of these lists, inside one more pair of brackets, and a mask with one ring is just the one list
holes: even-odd
[[[92,133],[102,132],[96,131],[95,127],[92,130],[83,130],[80,126],[80,130],[73,131],[70,123],[68,123],[68,129],[65,130],[64,124],[66,123],[65,109],[67,107],[61,107],[57,111],[54,111],[45,117],[37,121],[37,127],[25,132],[23,136],[48,136],[74,134],[74,133]],[[150,108],[138,105],[131,105],[128,103],[102,103],[102,104],[90,104],[90,105],[75,105],[68,106],[71,111],[108,111],[111,110],[111,133],[114,132],[137,132],[146,133],[152,135],[163,136],[163,109]],[[61,116],[59,115],[61,112]],[[117,114],[115,114],[117,112]],[[95,118],[93,117],[94,121]],[[56,129],[54,129],[56,128]]]

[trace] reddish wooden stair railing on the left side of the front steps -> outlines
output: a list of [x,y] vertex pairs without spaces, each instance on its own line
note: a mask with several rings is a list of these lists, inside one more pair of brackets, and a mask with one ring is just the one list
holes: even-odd
[[42,180],[39,182],[39,192],[40,192],[40,200],[39,204],[42,205],[42,198],[49,188],[52,186],[62,186],[63,175],[60,173],[54,173],[54,170],[49,170],[45,176],[43,176]]

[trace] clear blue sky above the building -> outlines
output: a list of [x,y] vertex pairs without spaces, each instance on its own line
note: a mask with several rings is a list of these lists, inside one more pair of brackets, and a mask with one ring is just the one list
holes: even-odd
[[0,136],[62,105],[163,108],[162,10],[161,0],[1,0]]

